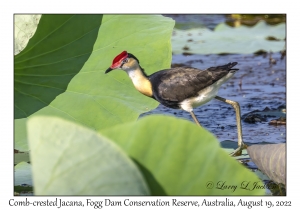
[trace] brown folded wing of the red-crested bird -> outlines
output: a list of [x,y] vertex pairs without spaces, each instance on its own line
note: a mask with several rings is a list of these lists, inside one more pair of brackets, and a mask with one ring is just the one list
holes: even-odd
[[[211,67],[207,70],[196,68],[173,68],[152,74],[154,98],[165,106],[179,108],[178,103],[226,76],[237,63]],[[234,69],[237,70],[237,69]]]

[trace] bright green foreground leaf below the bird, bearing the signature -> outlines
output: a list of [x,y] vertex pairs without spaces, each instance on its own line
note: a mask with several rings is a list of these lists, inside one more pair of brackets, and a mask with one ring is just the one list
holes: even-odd
[[[102,130],[135,161],[152,195],[261,195],[263,186],[218,140],[186,120],[149,116]],[[224,184],[224,185],[223,185]],[[220,189],[230,187],[227,189]],[[236,189],[231,187],[236,186]],[[251,188],[252,189],[252,188]]]

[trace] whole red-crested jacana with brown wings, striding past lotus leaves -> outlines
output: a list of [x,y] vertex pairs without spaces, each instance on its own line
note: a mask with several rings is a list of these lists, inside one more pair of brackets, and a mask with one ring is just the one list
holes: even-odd
[[189,112],[199,126],[201,125],[193,108],[205,104],[213,98],[232,105],[236,112],[238,131],[238,148],[231,153],[232,156],[235,156],[240,155],[241,151],[246,148],[242,139],[240,106],[235,101],[217,96],[217,92],[220,86],[238,70],[233,69],[236,64],[237,62],[233,62],[206,70],[177,67],[157,71],[147,76],[140,66],[139,60],[133,54],[123,51],[114,58],[105,74],[114,69],[124,70],[139,92],[166,107]]

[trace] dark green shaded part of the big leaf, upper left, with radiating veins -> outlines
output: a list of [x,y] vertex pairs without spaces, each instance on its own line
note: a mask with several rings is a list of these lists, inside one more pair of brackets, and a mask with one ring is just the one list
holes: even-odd
[[92,53],[101,21],[102,15],[42,16],[27,47],[15,56],[16,119],[49,105],[66,90]]

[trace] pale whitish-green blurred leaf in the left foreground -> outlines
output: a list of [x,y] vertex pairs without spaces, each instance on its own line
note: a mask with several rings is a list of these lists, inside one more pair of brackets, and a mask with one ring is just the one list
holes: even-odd
[[28,122],[35,195],[147,195],[135,164],[115,143],[56,117]]

